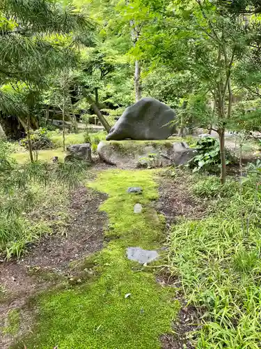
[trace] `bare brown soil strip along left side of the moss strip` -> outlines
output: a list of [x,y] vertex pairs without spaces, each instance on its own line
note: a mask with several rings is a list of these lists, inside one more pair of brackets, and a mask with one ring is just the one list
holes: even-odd
[[[69,209],[70,222],[65,236],[45,236],[32,244],[22,260],[1,262],[0,331],[6,327],[8,312],[22,308],[32,295],[56,285],[58,279],[72,276],[70,262],[98,251],[103,246],[106,214],[99,211],[106,195],[90,188],[78,188],[72,194]],[[27,312],[22,314],[23,326],[19,334],[30,327]],[[1,333],[1,332],[0,332]],[[12,336],[0,336],[0,348],[8,348]]]

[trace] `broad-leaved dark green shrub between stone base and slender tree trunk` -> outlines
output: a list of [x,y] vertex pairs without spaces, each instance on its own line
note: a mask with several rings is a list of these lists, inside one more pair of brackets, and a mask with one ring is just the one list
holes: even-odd
[[[198,140],[194,146],[198,154],[189,161],[189,167],[193,172],[204,170],[218,172],[221,167],[219,142],[216,138],[205,137]],[[232,156],[226,150],[226,164],[232,162]]]

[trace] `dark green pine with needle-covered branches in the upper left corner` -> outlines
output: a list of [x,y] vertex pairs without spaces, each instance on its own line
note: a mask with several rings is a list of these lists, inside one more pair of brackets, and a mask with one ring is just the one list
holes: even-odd
[[[14,124],[19,123],[20,129],[24,130],[24,114],[29,114],[29,106],[25,103],[21,107],[15,98],[19,94],[19,84],[28,90],[28,96],[45,87],[47,74],[71,64],[74,57],[72,32],[89,30],[91,25],[74,6],[48,0],[19,3],[4,0],[0,15],[1,124],[7,135],[17,137],[22,134],[17,132],[18,127]],[[67,42],[57,40],[57,34],[66,36]],[[30,128],[31,117],[29,121]]]

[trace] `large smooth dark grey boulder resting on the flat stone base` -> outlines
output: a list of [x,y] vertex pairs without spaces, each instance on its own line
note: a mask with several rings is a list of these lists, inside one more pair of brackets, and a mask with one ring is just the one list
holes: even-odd
[[166,140],[176,131],[171,121],[175,121],[175,112],[168,105],[155,98],[142,98],[127,107],[106,140]]

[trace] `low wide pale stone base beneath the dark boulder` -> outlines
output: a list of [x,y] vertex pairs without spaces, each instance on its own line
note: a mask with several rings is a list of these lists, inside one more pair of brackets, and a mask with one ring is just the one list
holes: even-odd
[[185,165],[196,155],[195,149],[173,140],[102,141],[97,147],[100,158],[111,165],[124,168],[157,168]]

